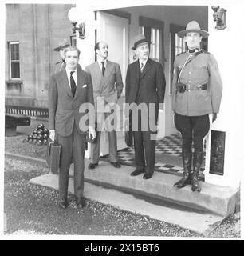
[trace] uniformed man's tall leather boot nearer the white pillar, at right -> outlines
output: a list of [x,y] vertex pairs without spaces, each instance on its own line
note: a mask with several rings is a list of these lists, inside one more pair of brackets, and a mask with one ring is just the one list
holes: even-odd
[[199,170],[203,163],[203,152],[194,152],[193,157],[193,173],[191,177],[191,190],[192,191],[201,191],[201,186],[199,185]]

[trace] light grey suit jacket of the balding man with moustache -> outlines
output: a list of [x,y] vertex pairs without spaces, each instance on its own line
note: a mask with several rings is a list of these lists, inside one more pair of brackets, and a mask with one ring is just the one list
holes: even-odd
[[107,60],[104,76],[98,62],[93,62],[85,70],[92,76],[95,107],[97,97],[104,97],[104,104],[117,102],[117,90],[123,89],[120,65]]

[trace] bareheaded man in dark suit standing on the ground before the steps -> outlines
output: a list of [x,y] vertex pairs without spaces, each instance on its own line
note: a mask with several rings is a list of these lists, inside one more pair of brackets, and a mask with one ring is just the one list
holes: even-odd
[[[65,68],[50,79],[49,84],[49,130],[50,138],[61,145],[61,162],[59,174],[59,206],[68,206],[69,167],[71,158],[74,163],[74,194],[76,206],[85,206],[84,190],[84,154],[85,123],[81,118],[85,113],[81,107],[88,103],[94,105],[92,79],[78,66],[80,50],[75,46],[65,48]],[[85,105],[84,105],[85,104]],[[92,121],[92,111],[89,111]],[[93,118],[94,121],[94,118]],[[89,136],[95,138],[94,122],[89,122]]]

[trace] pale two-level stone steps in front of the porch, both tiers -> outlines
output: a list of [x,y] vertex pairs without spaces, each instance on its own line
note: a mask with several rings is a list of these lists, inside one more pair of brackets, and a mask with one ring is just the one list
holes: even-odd
[[[134,168],[114,168],[100,161],[94,170],[87,169],[85,159],[85,198],[112,205],[121,210],[149,216],[207,235],[222,220],[234,213],[238,190],[200,182],[201,193],[192,192],[191,186],[177,189],[173,184],[179,177],[156,172],[144,180],[142,174],[130,176]],[[73,194],[73,165],[69,172],[69,193]],[[31,183],[58,189],[58,176],[45,174]]]

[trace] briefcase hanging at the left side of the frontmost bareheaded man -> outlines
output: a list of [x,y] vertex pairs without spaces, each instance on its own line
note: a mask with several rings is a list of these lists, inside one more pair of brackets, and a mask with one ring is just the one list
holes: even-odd
[[58,174],[60,166],[61,145],[57,141],[49,142],[47,148],[46,162],[52,174]]

